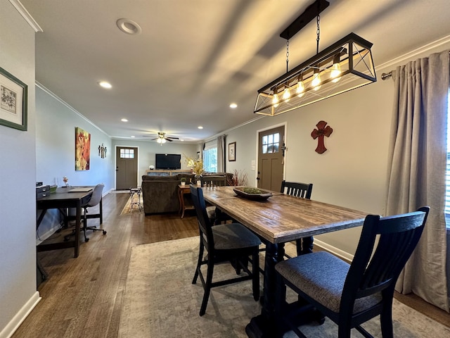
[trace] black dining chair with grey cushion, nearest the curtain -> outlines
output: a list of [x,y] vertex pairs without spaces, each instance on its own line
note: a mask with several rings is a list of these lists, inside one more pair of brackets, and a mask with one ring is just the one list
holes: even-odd
[[[304,334],[293,317],[304,308],[285,302],[286,285],[338,324],[338,337],[349,338],[356,328],[372,337],[360,325],[380,315],[384,338],[393,337],[392,298],[401,270],[420,239],[430,208],[380,218],[368,215],[352,264],[326,251],[290,258],[275,265],[276,325],[279,337],[287,324],[299,337]],[[375,246],[376,237],[378,244]],[[373,249],[375,248],[375,251]]]

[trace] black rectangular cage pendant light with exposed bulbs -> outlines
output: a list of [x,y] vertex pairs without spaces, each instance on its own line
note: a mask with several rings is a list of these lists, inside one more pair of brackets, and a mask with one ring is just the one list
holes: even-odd
[[[350,33],[319,53],[320,13],[330,3],[316,0],[280,35],[287,40],[286,73],[258,90],[254,113],[278,115],[376,82],[372,43]],[[317,20],[316,55],[288,70],[289,39]]]

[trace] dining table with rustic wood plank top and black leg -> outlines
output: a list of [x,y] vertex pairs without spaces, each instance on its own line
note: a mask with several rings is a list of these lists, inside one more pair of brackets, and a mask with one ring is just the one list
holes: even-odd
[[284,244],[364,223],[367,213],[310,199],[272,192],[266,201],[236,196],[233,187],[203,188],[205,201],[214,204],[261,237],[266,244],[262,312],[245,327],[248,337],[274,337],[275,264],[283,261]]

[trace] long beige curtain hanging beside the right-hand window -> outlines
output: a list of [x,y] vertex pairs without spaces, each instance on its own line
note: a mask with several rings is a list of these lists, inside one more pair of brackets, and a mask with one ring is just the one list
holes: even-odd
[[396,289],[449,311],[444,218],[449,51],[412,61],[392,73],[395,98],[386,214],[431,208]]

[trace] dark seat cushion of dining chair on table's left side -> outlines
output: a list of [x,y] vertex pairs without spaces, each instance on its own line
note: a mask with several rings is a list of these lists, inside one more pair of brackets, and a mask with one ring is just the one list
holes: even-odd
[[261,244],[256,234],[239,223],[214,225],[212,236],[214,249],[217,250],[243,249]]

